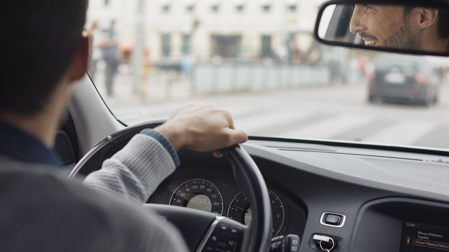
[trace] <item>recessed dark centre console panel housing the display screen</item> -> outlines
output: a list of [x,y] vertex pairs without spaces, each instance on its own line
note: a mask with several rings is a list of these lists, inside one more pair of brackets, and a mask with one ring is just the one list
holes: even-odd
[[359,211],[349,251],[449,251],[449,205],[407,198],[368,202]]

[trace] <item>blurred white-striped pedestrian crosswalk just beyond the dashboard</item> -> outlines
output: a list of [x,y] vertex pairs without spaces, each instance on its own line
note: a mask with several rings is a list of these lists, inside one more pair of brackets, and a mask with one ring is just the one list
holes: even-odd
[[375,115],[355,113],[316,116],[312,112],[294,110],[268,111],[247,117],[235,114],[234,125],[245,129],[249,135],[361,140],[383,144],[449,148],[449,122],[444,123],[440,120],[385,120]]

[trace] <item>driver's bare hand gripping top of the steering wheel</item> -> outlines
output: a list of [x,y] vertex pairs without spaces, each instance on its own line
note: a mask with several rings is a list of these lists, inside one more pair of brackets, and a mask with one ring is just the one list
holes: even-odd
[[236,129],[230,113],[215,104],[189,103],[176,111],[166,123],[155,128],[164,134],[178,151],[187,147],[196,151],[214,151],[245,142],[248,135]]

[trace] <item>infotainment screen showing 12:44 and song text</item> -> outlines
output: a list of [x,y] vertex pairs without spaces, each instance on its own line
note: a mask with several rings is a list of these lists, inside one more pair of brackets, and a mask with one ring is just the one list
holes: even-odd
[[449,228],[404,222],[401,252],[449,251]]

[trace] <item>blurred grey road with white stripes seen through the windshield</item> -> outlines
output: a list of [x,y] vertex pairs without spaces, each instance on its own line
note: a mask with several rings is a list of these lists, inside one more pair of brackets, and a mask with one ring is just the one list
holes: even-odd
[[[105,101],[127,124],[167,118],[188,102],[205,102],[228,109],[235,126],[249,135],[449,148],[448,84],[441,87],[439,104],[422,107],[370,104],[364,83],[201,96],[191,95],[181,81],[168,97],[163,84],[150,85],[144,96],[132,95],[131,85],[123,84],[129,82],[120,78],[117,95]],[[98,89],[104,92],[101,85]]]

